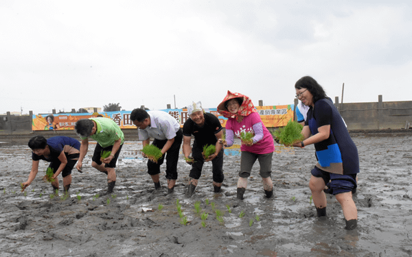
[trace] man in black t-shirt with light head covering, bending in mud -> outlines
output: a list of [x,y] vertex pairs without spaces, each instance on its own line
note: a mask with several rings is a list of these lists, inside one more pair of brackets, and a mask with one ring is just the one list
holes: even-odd
[[[223,175],[223,147],[222,147],[222,125],[218,117],[211,113],[203,112],[201,102],[190,103],[187,106],[187,114],[190,119],[187,119],[183,125],[183,154],[186,162],[192,164],[190,170],[189,186],[187,188],[187,196],[191,197],[194,189],[198,184],[198,179],[201,178],[204,162],[211,161],[213,173],[214,192],[220,192],[222,182],[225,178]],[[190,140],[194,136],[193,147],[190,147]],[[205,145],[216,145],[216,152],[204,159],[202,155]],[[190,159],[190,151],[193,158]]]

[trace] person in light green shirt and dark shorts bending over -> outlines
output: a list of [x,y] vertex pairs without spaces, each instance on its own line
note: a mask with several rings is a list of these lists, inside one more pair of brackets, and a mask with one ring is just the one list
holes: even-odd
[[[107,191],[103,195],[113,193],[116,184],[116,162],[124,143],[122,130],[112,119],[108,118],[80,119],[74,125],[74,130],[82,140],[76,169],[82,171],[82,161],[89,149],[90,136],[98,142],[91,158],[91,166],[107,175]],[[101,160],[103,151],[111,151],[111,154]]]

